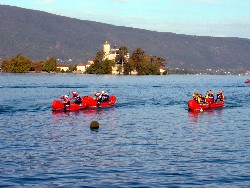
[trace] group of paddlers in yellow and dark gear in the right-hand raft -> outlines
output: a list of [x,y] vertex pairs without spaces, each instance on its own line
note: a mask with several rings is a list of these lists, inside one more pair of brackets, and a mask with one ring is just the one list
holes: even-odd
[[219,90],[217,92],[216,98],[214,97],[214,93],[212,92],[212,90],[208,90],[206,96],[195,92],[193,93],[192,97],[197,103],[212,103],[219,101],[224,102],[225,98],[224,94],[222,93],[222,90]]

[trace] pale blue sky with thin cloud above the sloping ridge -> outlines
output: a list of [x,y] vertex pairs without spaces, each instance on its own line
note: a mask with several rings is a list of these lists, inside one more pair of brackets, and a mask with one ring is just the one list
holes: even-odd
[[0,0],[0,4],[158,32],[250,39],[250,0]]

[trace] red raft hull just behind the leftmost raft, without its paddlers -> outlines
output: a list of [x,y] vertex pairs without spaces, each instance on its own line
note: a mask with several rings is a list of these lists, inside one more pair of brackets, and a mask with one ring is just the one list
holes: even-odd
[[82,101],[87,104],[89,107],[111,107],[115,105],[116,102],[116,96],[110,96],[109,101],[101,102],[100,104],[97,103],[97,101],[90,97],[90,96],[84,96],[82,98]]

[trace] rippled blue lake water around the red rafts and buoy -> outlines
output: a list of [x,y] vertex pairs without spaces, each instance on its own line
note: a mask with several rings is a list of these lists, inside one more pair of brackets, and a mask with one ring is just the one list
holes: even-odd
[[[247,78],[0,73],[0,186],[249,187]],[[117,103],[52,113],[70,89]],[[208,89],[223,90],[225,107],[188,112]]]

